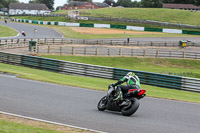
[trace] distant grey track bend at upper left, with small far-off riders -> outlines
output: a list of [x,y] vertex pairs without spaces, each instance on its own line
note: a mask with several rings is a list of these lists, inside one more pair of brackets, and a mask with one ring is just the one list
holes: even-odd
[[[4,38],[62,38],[63,37],[61,33],[55,30],[37,25],[30,25],[24,23],[22,24],[15,22],[8,22],[6,24],[3,21],[0,21],[0,25],[11,27],[19,32],[19,35],[16,37],[4,37]],[[35,29],[37,29],[37,32],[35,32]],[[26,33],[26,37],[21,35],[22,31]]]

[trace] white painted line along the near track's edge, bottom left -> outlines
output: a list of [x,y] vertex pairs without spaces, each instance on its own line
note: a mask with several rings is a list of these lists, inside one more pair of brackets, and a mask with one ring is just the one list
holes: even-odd
[[47,120],[42,120],[42,119],[38,119],[38,118],[33,118],[33,117],[28,117],[28,116],[23,116],[23,115],[17,115],[17,114],[7,113],[7,112],[3,112],[3,111],[0,111],[0,113],[5,114],[5,115],[20,117],[20,118],[24,118],[24,119],[34,120],[34,121],[45,122],[45,123],[49,123],[49,124],[55,124],[55,125],[59,125],[59,126],[71,127],[71,128],[76,128],[76,129],[81,129],[81,130],[86,130],[86,131],[92,131],[92,132],[97,132],[97,133],[106,133],[106,132],[103,132],[103,131],[97,131],[97,130],[93,130],[93,129],[83,128],[83,127],[78,127],[78,126],[53,122],[53,121],[47,121]]

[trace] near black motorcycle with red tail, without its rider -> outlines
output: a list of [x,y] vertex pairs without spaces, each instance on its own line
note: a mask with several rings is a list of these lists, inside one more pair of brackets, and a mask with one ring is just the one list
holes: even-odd
[[144,89],[130,89],[122,101],[115,101],[116,89],[112,85],[109,85],[107,95],[101,98],[97,108],[100,111],[117,111],[121,112],[124,116],[130,116],[139,108],[139,99],[146,96],[145,92],[146,90]]

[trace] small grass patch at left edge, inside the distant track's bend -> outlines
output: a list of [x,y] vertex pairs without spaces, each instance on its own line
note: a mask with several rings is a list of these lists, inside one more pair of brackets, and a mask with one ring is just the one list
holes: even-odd
[[12,28],[0,25],[0,37],[16,36],[17,31]]

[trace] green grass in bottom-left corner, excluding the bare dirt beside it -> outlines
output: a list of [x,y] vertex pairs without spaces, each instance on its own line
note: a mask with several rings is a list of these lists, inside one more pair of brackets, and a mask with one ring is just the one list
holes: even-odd
[[5,120],[0,120],[0,125],[0,133],[61,133],[56,130],[38,128]]

